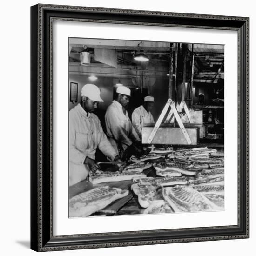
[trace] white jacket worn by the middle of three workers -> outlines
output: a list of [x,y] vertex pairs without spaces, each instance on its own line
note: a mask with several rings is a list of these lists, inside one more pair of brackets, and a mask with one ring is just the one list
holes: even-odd
[[126,114],[123,113],[122,105],[118,101],[112,101],[105,114],[107,136],[115,148],[125,150],[133,141],[141,141],[132,122]]

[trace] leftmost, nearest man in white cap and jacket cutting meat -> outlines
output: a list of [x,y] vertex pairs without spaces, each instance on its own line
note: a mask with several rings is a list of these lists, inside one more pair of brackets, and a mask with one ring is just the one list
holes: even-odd
[[86,84],[81,90],[81,102],[69,111],[69,186],[84,180],[89,171],[96,171],[95,152],[99,148],[112,161],[120,161],[118,152],[104,134],[101,122],[93,114],[103,102],[100,89]]

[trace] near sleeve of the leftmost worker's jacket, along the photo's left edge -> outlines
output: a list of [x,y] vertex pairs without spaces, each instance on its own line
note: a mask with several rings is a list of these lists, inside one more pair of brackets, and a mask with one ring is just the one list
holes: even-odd
[[83,163],[85,158],[86,155],[75,146],[75,121],[74,117],[69,115],[69,161]]

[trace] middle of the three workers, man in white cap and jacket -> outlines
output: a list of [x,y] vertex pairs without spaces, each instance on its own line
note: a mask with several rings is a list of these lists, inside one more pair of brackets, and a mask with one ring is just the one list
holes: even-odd
[[121,160],[130,155],[141,155],[141,139],[135,131],[126,110],[131,90],[125,86],[116,89],[115,100],[109,105],[106,115],[106,129],[109,141],[115,147]]

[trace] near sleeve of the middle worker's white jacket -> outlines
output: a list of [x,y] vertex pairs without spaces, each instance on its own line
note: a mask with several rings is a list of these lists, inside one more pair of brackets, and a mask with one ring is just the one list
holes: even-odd
[[121,127],[121,121],[118,117],[118,113],[115,113],[113,110],[109,110],[105,116],[105,121],[116,141],[121,142],[127,147],[132,144],[132,141],[128,138],[128,136],[125,134],[125,131]]

